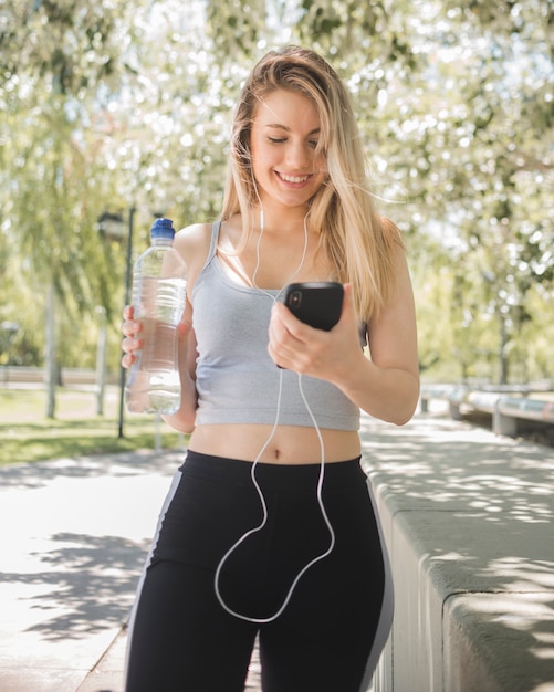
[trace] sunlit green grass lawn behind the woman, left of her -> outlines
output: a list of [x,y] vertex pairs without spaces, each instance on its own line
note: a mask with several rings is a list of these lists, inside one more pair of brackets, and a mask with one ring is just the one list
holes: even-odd
[[119,391],[108,387],[104,416],[96,413],[96,395],[84,389],[56,390],[55,418],[45,417],[44,389],[0,389],[0,466],[46,459],[154,449],[159,436],[164,449],[184,443],[155,416],[124,412],[124,437],[118,437]]

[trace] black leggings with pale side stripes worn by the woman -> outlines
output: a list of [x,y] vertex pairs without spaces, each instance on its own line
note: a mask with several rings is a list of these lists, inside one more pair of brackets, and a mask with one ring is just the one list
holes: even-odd
[[[266,623],[230,615],[215,589],[223,555],[262,521],[251,468],[188,452],[132,617],[126,692],[241,692],[258,633],[264,692],[359,692],[369,684],[390,628],[391,584],[359,460],[325,465],[334,548]],[[231,610],[270,618],[304,565],[328,548],[318,473],[318,464],[258,464],[268,521],[223,565],[219,588]]]

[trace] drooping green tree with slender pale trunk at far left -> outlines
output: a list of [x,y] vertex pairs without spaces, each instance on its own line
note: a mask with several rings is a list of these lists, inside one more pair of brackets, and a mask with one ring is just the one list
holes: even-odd
[[[80,126],[91,96],[113,77],[116,15],[84,1],[39,0],[31,6],[20,0],[6,9],[3,19],[0,70],[7,116],[1,134],[9,198],[2,233],[25,258],[22,271],[34,295],[50,296],[46,334],[53,339],[58,301],[73,324],[98,300],[109,305],[109,276],[98,270],[87,217],[95,195],[87,185],[90,161]],[[51,342],[50,417],[55,408],[55,353]]]

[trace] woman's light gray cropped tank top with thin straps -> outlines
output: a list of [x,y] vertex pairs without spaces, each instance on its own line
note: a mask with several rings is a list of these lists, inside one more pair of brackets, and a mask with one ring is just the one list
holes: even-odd
[[[199,354],[196,424],[273,424],[282,376],[279,423],[313,427],[299,375],[278,368],[268,354],[271,307],[280,292],[244,286],[227,274],[216,254],[219,226],[213,224],[208,260],[191,295]],[[320,428],[359,429],[358,407],[337,387],[303,376],[302,390]]]

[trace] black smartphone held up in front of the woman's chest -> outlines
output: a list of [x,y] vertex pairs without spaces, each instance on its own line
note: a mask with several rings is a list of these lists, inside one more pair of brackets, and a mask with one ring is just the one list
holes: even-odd
[[302,322],[328,332],[341,318],[343,295],[343,284],[335,281],[292,283],[284,304]]

